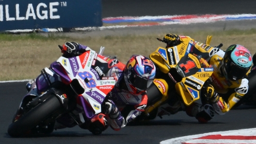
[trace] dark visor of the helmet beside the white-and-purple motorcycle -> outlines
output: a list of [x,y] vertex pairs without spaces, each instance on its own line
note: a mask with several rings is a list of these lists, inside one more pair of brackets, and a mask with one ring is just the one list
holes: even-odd
[[130,76],[128,77],[128,82],[138,91],[145,91],[147,87],[152,84],[153,80],[148,80],[147,78],[140,77],[131,72]]

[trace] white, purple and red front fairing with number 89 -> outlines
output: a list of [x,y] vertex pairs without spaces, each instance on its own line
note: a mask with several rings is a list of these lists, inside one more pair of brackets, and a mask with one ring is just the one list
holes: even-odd
[[[100,80],[98,78],[99,70],[92,68],[96,58],[97,53],[93,50],[89,50],[78,57],[61,57],[57,62],[64,68],[68,78],[71,81],[76,79],[83,89],[83,92],[77,93],[78,96],[81,97],[79,98],[81,101],[80,106],[88,110],[86,107],[90,105],[95,114],[98,114],[101,112],[101,104],[106,98],[106,95],[115,85],[115,80]],[[67,78],[65,79],[68,80]],[[73,89],[74,88],[75,87],[73,87]],[[92,115],[87,116],[91,117]]]

